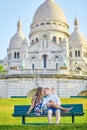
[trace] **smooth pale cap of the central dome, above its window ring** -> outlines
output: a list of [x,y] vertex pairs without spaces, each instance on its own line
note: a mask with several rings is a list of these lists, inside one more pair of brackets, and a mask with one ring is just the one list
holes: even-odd
[[33,22],[40,20],[57,20],[67,23],[62,9],[53,0],[45,0],[35,12]]

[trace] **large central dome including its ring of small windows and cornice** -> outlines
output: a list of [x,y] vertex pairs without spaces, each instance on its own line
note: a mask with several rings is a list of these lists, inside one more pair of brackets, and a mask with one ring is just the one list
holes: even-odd
[[57,43],[60,39],[69,38],[69,26],[62,9],[54,2],[54,0],[45,0],[43,4],[36,10],[33,22],[30,26],[29,39],[31,45],[40,41],[43,32],[49,33],[50,41],[52,37],[56,37]]

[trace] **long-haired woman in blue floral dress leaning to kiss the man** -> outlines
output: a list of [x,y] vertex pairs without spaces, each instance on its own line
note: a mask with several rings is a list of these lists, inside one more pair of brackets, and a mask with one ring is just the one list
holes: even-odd
[[27,111],[27,114],[29,114],[32,109],[34,109],[34,113],[37,116],[40,116],[41,114],[43,114],[43,111],[42,111],[43,94],[44,94],[44,89],[42,87],[39,87],[36,91],[36,94],[32,97],[32,100],[31,100],[32,104],[29,110]]

